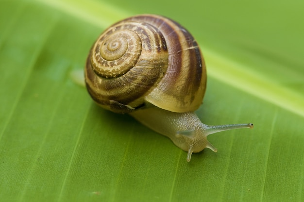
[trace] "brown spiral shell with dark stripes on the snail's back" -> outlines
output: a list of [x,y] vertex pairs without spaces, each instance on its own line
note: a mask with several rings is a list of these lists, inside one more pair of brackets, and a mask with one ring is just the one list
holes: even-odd
[[129,17],[93,45],[85,83],[102,107],[128,113],[147,103],[172,112],[195,111],[206,85],[203,56],[193,36],[162,16]]

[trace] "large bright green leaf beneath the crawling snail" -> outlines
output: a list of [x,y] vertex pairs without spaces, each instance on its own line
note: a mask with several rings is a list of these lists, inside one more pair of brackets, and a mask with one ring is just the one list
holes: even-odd
[[[303,201],[304,2],[0,1],[0,198],[16,201]],[[70,78],[112,23],[154,13],[198,40],[203,123],[253,122],[192,155]]]

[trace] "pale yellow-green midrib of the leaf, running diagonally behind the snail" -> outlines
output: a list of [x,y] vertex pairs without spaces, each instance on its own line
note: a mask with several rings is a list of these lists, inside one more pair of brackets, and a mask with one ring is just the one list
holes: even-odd
[[[113,16],[122,19],[132,15],[115,5],[102,2],[101,6],[100,2],[94,0],[87,0],[85,6],[75,0],[36,1],[102,28],[114,23]],[[95,9],[92,11],[91,8]],[[225,58],[207,47],[203,47],[203,50],[204,58],[208,62],[208,76],[304,117],[303,95],[272,81],[265,75],[253,71],[253,68],[244,68],[246,67],[245,64]]]

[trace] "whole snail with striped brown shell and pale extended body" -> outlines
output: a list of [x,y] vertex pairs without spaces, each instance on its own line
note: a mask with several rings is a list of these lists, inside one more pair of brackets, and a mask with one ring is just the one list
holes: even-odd
[[128,113],[188,152],[209,148],[207,135],[253,128],[208,126],[194,113],[203,101],[206,68],[193,36],[177,22],[138,15],[106,29],[87,57],[85,85],[92,99],[115,113]]

